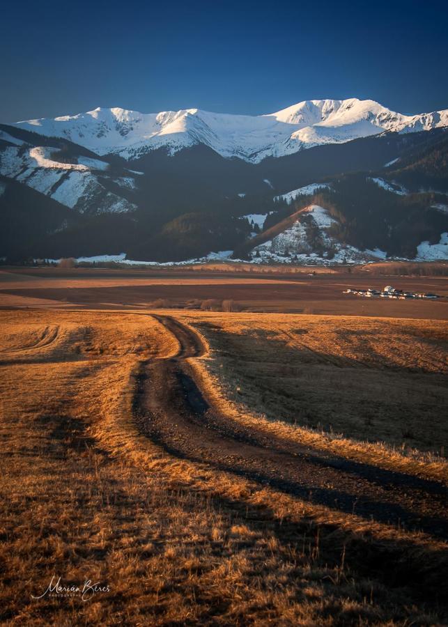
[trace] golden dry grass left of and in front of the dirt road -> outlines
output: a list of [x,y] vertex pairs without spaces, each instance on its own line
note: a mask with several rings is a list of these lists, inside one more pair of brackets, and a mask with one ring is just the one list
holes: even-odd
[[[178,351],[153,318],[0,316],[3,623],[440,623],[409,575],[424,568],[434,586],[442,543],[177,460],[139,433],[139,363]],[[111,591],[31,599],[54,573]]]

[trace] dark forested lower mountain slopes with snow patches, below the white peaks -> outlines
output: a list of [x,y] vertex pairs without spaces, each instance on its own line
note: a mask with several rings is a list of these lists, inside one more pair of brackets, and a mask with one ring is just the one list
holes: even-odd
[[[282,115],[306,124],[319,115],[311,105]],[[331,107],[323,123],[341,116]],[[195,113],[187,116],[193,128]],[[125,137],[128,127],[118,130]],[[198,138],[205,132],[197,131]],[[206,132],[214,137],[210,127]],[[125,251],[165,263],[232,250],[263,263],[448,258],[447,155],[447,127],[382,131],[252,163],[201,141],[173,155],[165,146],[126,161],[67,137],[0,125],[0,258]],[[272,241],[254,238],[310,203],[319,208]],[[261,215],[263,226],[254,229]]]

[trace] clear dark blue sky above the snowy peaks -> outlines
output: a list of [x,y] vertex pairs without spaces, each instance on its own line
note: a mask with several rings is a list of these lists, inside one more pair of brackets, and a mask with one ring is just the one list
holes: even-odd
[[350,97],[446,109],[447,32],[441,1],[7,1],[0,121]]

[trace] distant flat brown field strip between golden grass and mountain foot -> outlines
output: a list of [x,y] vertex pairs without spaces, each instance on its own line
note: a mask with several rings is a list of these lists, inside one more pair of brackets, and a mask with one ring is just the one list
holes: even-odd
[[[448,277],[383,277],[358,269],[352,274],[325,269],[307,272],[212,272],[201,270],[101,270],[10,268],[0,270],[0,307],[87,307],[199,309],[201,303],[233,301],[240,311],[343,316],[386,316],[447,320]],[[324,269],[317,269],[324,270]],[[434,292],[437,302],[343,295],[347,287]]]

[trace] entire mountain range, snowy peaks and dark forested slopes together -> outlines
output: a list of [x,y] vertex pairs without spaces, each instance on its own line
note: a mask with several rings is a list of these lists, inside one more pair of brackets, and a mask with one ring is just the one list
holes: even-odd
[[0,125],[0,257],[445,259],[447,128],[355,98]]

